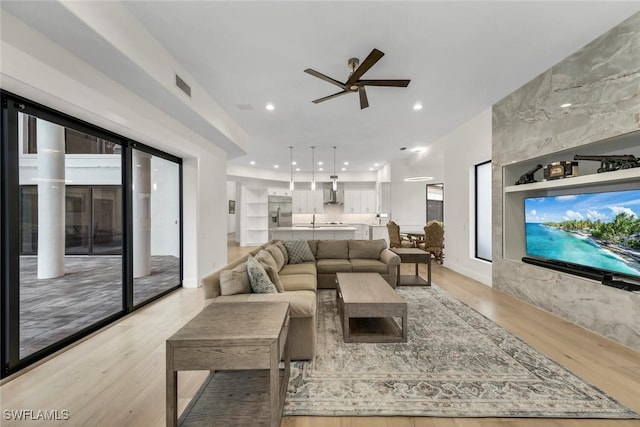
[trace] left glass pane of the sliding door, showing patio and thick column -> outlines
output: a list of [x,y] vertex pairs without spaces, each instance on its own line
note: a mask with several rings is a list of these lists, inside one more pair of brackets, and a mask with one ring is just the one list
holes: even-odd
[[[20,359],[123,310],[120,146],[36,114],[18,113]],[[108,212],[94,205],[95,183],[108,186]],[[88,257],[106,233],[120,235],[112,255]]]

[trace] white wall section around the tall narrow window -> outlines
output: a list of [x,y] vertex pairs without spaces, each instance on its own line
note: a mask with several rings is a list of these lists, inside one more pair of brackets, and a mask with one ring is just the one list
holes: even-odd
[[491,109],[441,138],[444,147],[445,264],[491,285],[491,263],[475,258],[475,165],[491,160]]

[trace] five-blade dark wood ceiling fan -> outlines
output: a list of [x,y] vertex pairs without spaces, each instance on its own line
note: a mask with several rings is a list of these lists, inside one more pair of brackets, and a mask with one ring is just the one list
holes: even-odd
[[358,58],[349,59],[349,61],[347,61],[347,65],[351,69],[351,75],[344,83],[340,83],[339,81],[334,80],[331,77],[325,76],[324,74],[312,70],[311,68],[307,68],[306,70],[304,70],[305,73],[311,74],[312,76],[332,83],[342,89],[342,91],[338,93],[325,96],[324,98],[316,99],[312,102],[314,104],[319,104],[320,102],[327,101],[340,95],[358,92],[358,94],[360,95],[360,109],[364,109],[369,106],[369,100],[367,99],[365,86],[407,87],[411,80],[360,80],[360,77],[362,77],[362,75],[366,73],[369,68],[373,67],[374,64],[378,62],[383,56],[384,53],[382,53],[378,49],[373,49],[369,56],[367,56],[362,62],[362,64],[360,64],[360,60]]

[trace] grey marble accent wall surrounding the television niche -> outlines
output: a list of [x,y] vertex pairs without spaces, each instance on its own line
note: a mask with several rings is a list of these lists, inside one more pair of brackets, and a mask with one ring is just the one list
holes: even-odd
[[505,256],[503,168],[639,130],[640,13],[493,106],[493,286],[638,351],[640,294]]

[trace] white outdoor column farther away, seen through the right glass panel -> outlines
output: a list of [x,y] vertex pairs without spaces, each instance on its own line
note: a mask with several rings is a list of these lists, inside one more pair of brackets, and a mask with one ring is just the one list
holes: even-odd
[[133,150],[133,277],[151,274],[151,155]]

